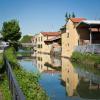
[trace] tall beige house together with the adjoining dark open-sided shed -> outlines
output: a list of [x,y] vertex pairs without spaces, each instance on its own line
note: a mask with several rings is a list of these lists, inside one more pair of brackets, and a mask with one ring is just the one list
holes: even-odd
[[71,57],[76,46],[100,44],[100,21],[70,18],[61,28],[62,57]]

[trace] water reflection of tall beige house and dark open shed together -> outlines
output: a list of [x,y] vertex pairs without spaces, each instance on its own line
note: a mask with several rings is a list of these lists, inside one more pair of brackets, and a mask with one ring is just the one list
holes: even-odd
[[73,64],[62,58],[62,84],[68,96],[84,99],[100,99],[100,75],[73,67]]

